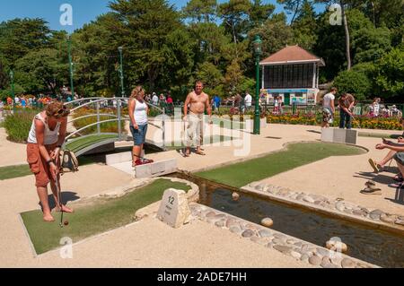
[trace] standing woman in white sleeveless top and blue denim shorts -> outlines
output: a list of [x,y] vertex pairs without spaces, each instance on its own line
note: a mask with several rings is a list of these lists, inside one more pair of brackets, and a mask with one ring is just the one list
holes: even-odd
[[145,103],[145,90],[137,86],[130,95],[129,103],[130,132],[133,136],[134,147],[132,156],[132,166],[152,163],[153,160],[145,160],[142,156],[145,144],[145,135],[147,134],[147,114],[149,108]]

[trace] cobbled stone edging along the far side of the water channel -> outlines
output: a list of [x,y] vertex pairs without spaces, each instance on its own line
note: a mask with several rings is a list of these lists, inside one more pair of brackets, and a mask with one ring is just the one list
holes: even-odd
[[271,200],[322,212],[347,221],[355,221],[380,230],[404,235],[404,216],[368,209],[343,200],[332,200],[323,195],[294,192],[282,186],[254,182],[243,186],[242,191],[263,195]]

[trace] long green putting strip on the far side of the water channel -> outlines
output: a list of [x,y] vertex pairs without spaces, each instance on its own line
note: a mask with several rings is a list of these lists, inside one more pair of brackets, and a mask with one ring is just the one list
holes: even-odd
[[[227,186],[242,187],[251,182],[269,178],[289,169],[295,169],[330,156],[347,156],[363,153],[363,149],[344,144],[293,143],[288,145],[285,150],[271,153],[259,159],[198,172],[195,175]],[[321,174],[313,174],[313,176],[321,176]]]

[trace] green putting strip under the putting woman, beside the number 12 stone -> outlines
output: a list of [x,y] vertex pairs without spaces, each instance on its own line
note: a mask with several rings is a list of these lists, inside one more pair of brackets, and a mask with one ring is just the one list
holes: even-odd
[[115,199],[103,199],[96,204],[75,209],[73,214],[64,214],[69,225],[60,228],[60,214],[54,214],[55,222],[42,221],[42,212],[22,212],[22,221],[31,238],[37,254],[60,247],[60,238],[68,237],[73,243],[108,230],[114,230],[133,222],[135,212],[162,199],[164,191],[170,187],[188,191],[183,183],[158,179],[148,186],[139,188]]

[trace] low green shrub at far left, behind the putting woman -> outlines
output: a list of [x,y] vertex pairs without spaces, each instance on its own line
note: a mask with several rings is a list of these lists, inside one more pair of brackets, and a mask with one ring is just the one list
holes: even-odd
[[36,111],[19,111],[5,117],[4,127],[8,134],[7,139],[15,143],[25,143],[31,129],[32,119]]

